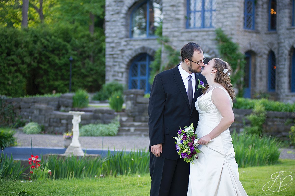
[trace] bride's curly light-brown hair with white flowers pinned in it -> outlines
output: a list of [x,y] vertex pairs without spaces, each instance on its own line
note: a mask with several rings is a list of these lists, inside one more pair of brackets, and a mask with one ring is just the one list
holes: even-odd
[[[217,70],[214,81],[224,86],[224,88],[227,90],[228,94],[230,94],[230,97],[233,100],[235,98],[235,90],[232,88],[232,84],[230,83],[230,76],[228,75],[228,73],[231,72],[230,65],[222,59],[214,58],[213,68]],[[227,73],[223,72],[224,69],[228,70]],[[203,89],[203,93],[205,93],[208,88],[209,85],[207,84],[206,87]]]

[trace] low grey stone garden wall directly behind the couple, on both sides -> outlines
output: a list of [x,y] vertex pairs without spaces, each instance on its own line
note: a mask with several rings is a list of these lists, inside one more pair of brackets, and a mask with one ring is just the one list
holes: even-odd
[[[135,121],[148,122],[148,100],[144,98],[143,90],[127,90],[124,92],[126,100],[126,113],[134,117]],[[246,116],[252,113],[252,110],[233,109],[235,122],[230,126],[230,130],[238,132],[244,131],[244,126],[250,126],[250,121]],[[265,133],[277,136],[283,140],[289,140],[290,127],[294,125],[295,113],[293,112],[275,112],[267,111],[267,118],[263,124]]]

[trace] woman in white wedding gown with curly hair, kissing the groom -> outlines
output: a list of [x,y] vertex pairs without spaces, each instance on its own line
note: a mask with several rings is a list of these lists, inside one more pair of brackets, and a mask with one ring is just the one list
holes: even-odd
[[[210,60],[202,70],[208,85],[196,101],[200,114],[196,134],[201,152],[195,164],[190,165],[188,196],[247,195],[239,180],[229,130],[235,118],[230,71],[230,65],[218,58]],[[211,139],[213,142],[209,142]]]

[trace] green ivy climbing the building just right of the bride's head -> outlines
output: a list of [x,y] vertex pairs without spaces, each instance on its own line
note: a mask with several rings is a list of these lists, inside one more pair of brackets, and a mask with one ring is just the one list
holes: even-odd
[[231,37],[228,37],[221,28],[215,30],[216,40],[218,42],[217,48],[219,50],[220,57],[228,62],[232,67],[231,83],[234,88],[238,89],[236,96],[243,96],[244,86],[244,67],[246,61],[245,55],[239,51],[239,45],[232,41]]

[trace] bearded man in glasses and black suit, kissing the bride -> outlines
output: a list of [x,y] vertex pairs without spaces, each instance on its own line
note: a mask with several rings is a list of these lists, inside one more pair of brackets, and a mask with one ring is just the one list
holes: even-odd
[[189,163],[180,159],[175,149],[179,127],[197,126],[199,113],[195,108],[204,55],[196,43],[181,48],[182,62],[175,68],[155,76],[149,101],[150,133],[150,195],[186,195],[189,181]]

